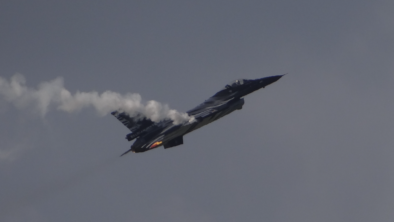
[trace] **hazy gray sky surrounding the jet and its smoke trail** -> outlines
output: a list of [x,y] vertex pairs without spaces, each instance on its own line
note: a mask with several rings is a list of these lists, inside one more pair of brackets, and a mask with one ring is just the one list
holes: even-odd
[[93,108],[0,98],[0,220],[394,220],[393,1],[8,1],[0,76],[139,93],[180,112],[289,73],[242,110],[130,153]]

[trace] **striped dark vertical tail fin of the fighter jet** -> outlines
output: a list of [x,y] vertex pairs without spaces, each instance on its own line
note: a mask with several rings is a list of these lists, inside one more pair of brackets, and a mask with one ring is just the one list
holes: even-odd
[[[125,125],[131,133],[128,135],[135,134],[136,132],[146,129],[147,127],[151,126],[154,124],[154,122],[150,119],[147,119],[143,114],[138,113],[136,116],[131,117],[130,114],[126,112],[118,112],[118,111],[113,111],[111,113],[113,116],[115,116],[123,125]],[[139,133],[138,133],[139,134]],[[136,136],[133,136],[133,139]]]

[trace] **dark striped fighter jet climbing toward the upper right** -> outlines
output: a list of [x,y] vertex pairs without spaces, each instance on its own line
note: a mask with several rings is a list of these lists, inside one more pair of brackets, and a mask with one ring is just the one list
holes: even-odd
[[186,121],[180,124],[173,124],[173,120],[164,119],[160,122],[153,122],[142,114],[130,116],[126,112],[114,111],[111,114],[123,123],[131,133],[126,135],[128,141],[136,139],[128,151],[121,156],[132,151],[141,153],[147,150],[164,146],[164,149],[183,144],[183,136],[208,123],[211,123],[234,110],[242,109],[245,95],[264,88],[276,82],[283,75],[269,76],[258,79],[238,79],[227,84],[215,95],[199,104],[186,113],[195,118],[195,121]]

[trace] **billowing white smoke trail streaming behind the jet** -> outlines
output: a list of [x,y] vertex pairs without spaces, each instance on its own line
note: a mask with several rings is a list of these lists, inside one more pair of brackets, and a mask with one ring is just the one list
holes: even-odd
[[131,115],[140,112],[156,122],[165,118],[172,119],[174,124],[194,120],[188,114],[172,110],[167,104],[163,105],[154,100],[148,101],[144,105],[141,103],[141,96],[138,93],[121,95],[108,90],[101,94],[96,91],[77,91],[72,95],[63,87],[62,77],[42,82],[37,89],[28,88],[26,79],[19,73],[13,75],[10,81],[0,77],[0,94],[17,108],[35,106],[42,116],[45,116],[50,106],[54,104],[59,110],[66,112],[74,112],[93,106],[102,116],[114,110],[122,110]]

